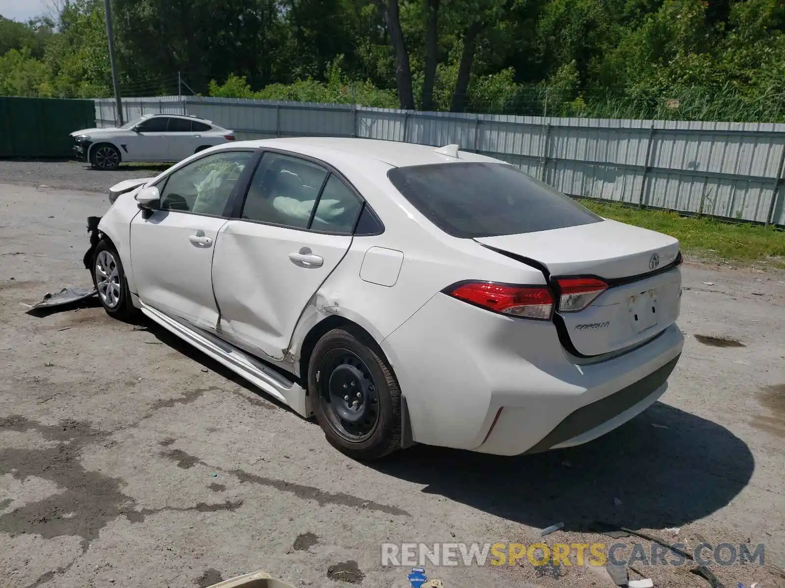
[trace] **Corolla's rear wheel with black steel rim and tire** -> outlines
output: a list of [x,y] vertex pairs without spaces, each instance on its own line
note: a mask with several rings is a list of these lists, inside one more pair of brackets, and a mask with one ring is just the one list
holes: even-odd
[[313,348],[308,390],[327,441],[371,461],[400,448],[400,387],[382,350],[360,332],[335,328]]

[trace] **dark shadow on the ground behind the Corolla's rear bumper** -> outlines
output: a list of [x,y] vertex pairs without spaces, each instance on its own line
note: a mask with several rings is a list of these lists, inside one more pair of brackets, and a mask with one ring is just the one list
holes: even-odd
[[747,485],[754,458],[724,427],[658,402],[575,448],[498,457],[415,446],[370,465],[510,521],[585,531],[593,521],[643,529],[706,517]]

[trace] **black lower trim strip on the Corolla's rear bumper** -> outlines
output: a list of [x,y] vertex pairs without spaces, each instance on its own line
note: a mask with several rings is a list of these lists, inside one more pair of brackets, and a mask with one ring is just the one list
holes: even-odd
[[654,372],[644,377],[644,379],[640,379],[636,383],[622,388],[615,394],[611,394],[601,400],[592,402],[590,405],[582,406],[575,412],[571,412],[555,429],[525,453],[529,454],[548,451],[550,448],[553,448],[554,445],[559,445],[560,443],[564,443],[564,441],[569,441],[573,437],[578,437],[579,435],[600,426],[602,423],[607,423],[608,420],[620,415],[628,408],[637,405],[638,402],[653,394],[657,388],[666,383],[671,372],[674,371],[679,358],[681,358],[681,354],[678,354],[675,358],[663,365],[663,367],[656,369]]

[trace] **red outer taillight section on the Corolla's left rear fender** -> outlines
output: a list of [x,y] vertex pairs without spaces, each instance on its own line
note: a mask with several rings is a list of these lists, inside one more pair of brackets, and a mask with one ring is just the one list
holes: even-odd
[[553,295],[545,286],[515,286],[471,281],[459,285],[450,296],[513,317],[547,320],[553,310]]

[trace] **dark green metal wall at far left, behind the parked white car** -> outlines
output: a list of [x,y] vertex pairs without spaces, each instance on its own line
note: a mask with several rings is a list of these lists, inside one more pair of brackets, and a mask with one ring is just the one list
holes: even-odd
[[63,158],[68,133],[95,126],[93,100],[0,96],[0,157]]

